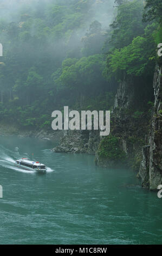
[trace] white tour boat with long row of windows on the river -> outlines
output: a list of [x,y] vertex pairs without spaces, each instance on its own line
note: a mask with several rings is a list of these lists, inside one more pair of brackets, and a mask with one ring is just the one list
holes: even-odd
[[30,161],[27,158],[22,158],[15,161],[15,166],[25,170],[38,170],[40,172],[46,172],[46,166],[40,162]]

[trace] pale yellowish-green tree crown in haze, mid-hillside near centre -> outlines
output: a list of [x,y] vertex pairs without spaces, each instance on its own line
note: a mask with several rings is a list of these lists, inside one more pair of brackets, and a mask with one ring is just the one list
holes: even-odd
[[55,80],[55,83],[73,90],[76,99],[87,94],[98,95],[106,86],[106,80],[102,76],[105,64],[101,54],[82,57],[79,60],[64,60],[62,74],[59,79]]

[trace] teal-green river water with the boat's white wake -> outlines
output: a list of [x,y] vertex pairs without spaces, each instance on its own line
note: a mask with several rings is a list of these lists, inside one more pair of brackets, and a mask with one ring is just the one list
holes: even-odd
[[[59,154],[53,143],[0,137],[0,244],[161,244],[162,198],[136,173],[96,167],[94,156]],[[20,157],[47,173],[14,167]]]

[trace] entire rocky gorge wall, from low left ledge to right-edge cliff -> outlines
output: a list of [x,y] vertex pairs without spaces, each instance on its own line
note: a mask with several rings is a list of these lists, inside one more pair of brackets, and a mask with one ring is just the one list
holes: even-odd
[[95,154],[95,163],[103,167],[123,164],[138,172],[143,187],[157,189],[162,182],[161,79],[161,67],[157,65],[151,86],[153,109],[139,111],[140,102],[143,106],[148,102],[147,84],[142,84],[139,78],[125,77],[119,84],[111,111],[111,134],[101,137],[94,130],[64,131],[60,144],[53,150]]

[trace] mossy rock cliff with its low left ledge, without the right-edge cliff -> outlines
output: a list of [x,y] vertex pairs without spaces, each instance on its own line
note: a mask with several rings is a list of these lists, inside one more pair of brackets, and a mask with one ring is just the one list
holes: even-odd
[[[131,78],[119,84],[111,111],[111,135],[100,136],[99,131],[64,131],[60,144],[53,150],[56,153],[95,154],[95,163],[103,167],[127,164],[139,169],[142,159],[147,118],[134,116],[134,106],[138,89],[134,90]],[[143,122],[144,125],[139,125]]]

